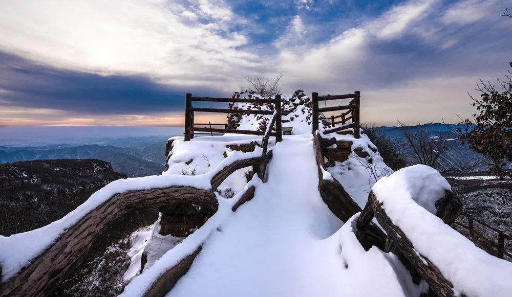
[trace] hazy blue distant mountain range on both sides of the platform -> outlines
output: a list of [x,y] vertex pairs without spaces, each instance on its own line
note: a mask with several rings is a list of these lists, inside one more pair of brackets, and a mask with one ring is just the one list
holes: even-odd
[[[54,127],[53,129],[56,130],[57,128]],[[476,164],[471,168],[471,171],[487,170],[488,163],[482,155],[476,154],[466,145],[462,145],[455,140],[452,131],[457,129],[456,124],[430,123],[407,126],[407,129],[412,131],[421,128],[428,130],[432,137],[448,133],[449,138],[453,139],[450,141],[450,149],[440,159],[443,168],[463,168],[468,164]],[[376,129],[396,142],[405,141],[401,127],[381,126],[376,127]],[[62,135],[59,137],[62,137]],[[0,163],[36,159],[96,158],[111,163],[116,172],[124,173],[130,177],[161,174],[165,170],[166,158],[164,154],[167,139],[168,136],[133,136],[116,139],[99,137],[94,140],[89,139],[78,145],[71,145],[66,143],[56,144],[55,140],[47,138],[47,144],[41,146],[0,146]],[[411,151],[404,149],[401,153],[411,162],[413,161]]]

